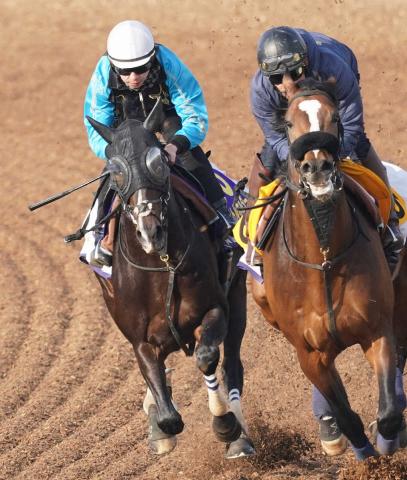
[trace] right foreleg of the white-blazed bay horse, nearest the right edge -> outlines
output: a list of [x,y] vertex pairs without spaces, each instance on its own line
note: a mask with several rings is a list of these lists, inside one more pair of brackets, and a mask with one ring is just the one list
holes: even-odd
[[396,395],[395,347],[389,338],[380,337],[364,350],[379,386],[376,447],[381,454],[389,455],[399,447],[398,434],[402,430],[403,405]]

